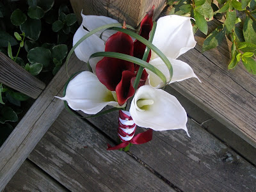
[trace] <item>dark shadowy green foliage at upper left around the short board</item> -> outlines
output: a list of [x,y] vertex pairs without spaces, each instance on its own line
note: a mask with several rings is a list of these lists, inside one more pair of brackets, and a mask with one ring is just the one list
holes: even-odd
[[[72,40],[72,29],[78,28],[76,15],[68,7],[54,6],[54,0],[1,1],[0,51],[33,76],[56,74],[67,56],[65,44],[71,43],[67,41]],[[57,20],[62,26],[54,32],[51,28]],[[12,132],[22,102],[28,99],[0,82],[0,145]]]

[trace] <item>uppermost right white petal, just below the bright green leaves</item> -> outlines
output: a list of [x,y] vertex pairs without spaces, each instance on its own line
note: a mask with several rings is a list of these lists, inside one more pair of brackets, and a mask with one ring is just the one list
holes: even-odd
[[[189,17],[167,15],[157,20],[156,33],[152,42],[169,58],[176,59],[195,47],[192,25]],[[155,53],[153,53],[153,58]]]

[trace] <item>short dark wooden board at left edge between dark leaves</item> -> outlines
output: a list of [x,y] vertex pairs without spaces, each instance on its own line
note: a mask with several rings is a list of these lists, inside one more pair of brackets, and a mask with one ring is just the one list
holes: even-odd
[[45,84],[0,52],[0,83],[36,99]]

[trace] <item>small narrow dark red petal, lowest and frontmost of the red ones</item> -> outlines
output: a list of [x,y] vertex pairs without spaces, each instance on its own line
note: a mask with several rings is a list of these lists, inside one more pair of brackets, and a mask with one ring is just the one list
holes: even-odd
[[129,70],[125,70],[122,73],[122,80],[116,86],[116,97],[120,106],[122,106],[127,99],[134,95],[135,90],[131,83],[132,77],[136,77],[136,75]]

